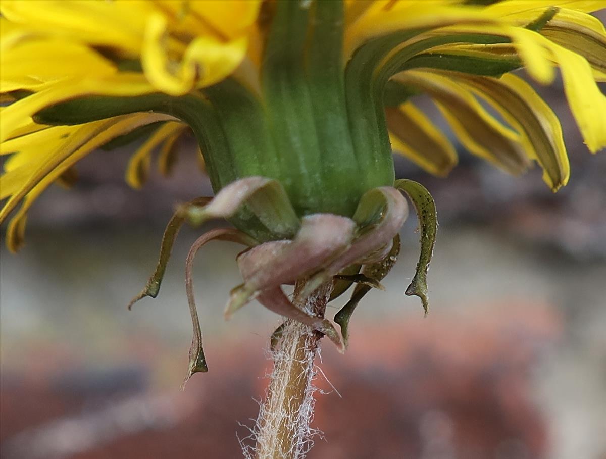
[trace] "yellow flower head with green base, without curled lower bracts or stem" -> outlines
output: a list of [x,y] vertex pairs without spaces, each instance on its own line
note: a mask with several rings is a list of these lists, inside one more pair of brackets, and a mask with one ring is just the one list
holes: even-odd
[[[514,174],[533,160],[557,190],[569,167],[558,118],[516,73],[549,84],[559,68],[590,151],[606,146],[606,1],[2,0],[0,198],[36,197],[86,154],[150,136],[127,180],[141,187],[190,126],[215,192],[262,175],[299,216],[351,216],[393,185],[391,146],[445,175],[448,137],[415,105],[428,94],[471,153]],[[485,107],[501,115],[497,118]],[[151,126],[151,128],[145,128]],[[132,135],[131,135],[132,134]],[[127,137],[123,137],[127,136]],[[130,137],[128,137],[130,136]],[[390,145],[391,139],[391,145]],[[250,217],[234,220],[251,229]],[[267,233],[267,231],[266,231]]]

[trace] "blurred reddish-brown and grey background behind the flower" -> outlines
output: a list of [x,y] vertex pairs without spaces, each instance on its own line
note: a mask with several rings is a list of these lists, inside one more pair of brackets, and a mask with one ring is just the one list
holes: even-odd
[[[431,312],[404,296],[412,216],[387,291],[352,319],[350,349],[323,343],[310,459],[606,457],[606,157],[587,153],[561,92],[543,93],[572,163],[556,195],[537,168],[509,177],[461,153],[436,179],[396,160],[438,205]],[[122,180],[132,150],[88,157],[73,190],[36,203],[22,252],[1,249],[0,457],[223,459],[241,457],[238,438],[250,444],[280,320],[257,303],[222,319],[239,248],[215,243],[196,261],[210,371],[184,392],[184,260],[199,230],[182,231],[158,299],[125,308],[173,205],[209,193],[192,146],[141,192]]]

